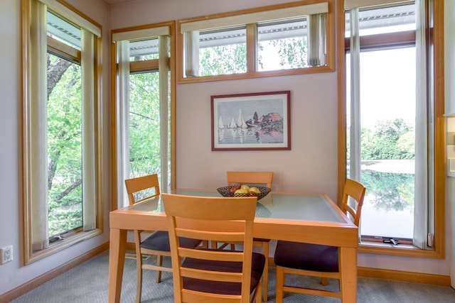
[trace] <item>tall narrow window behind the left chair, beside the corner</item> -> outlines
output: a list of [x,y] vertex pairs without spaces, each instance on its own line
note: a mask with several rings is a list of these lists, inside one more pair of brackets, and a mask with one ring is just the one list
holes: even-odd
[[[124,180],[158,174],[161,192],[173,181],[171,102],[173,22],[115,30],[117,197],[114,208],[127,206]],[[115,194],[115,193],[114,193]]]

